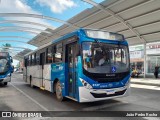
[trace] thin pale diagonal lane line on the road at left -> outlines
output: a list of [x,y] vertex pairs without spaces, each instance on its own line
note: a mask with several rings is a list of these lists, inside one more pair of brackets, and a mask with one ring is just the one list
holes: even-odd
[[34,103],[36,103],[37,105],[39,105],[44,111],[49,111],[46,107],[44,107],[43,105],[41,105],[40,103],[38,103],[35,99],[31,98],[29,95],[27,95],[25,92],[23,92],[22,90],[20,90],[19,88],[17,88],[15,85],[13,85],[12,83],[10,83],[10,85],[13,86],[20,93],[22,93],[24,96],[26,96],[27,98],[29,98],[31,101],[33,101]]

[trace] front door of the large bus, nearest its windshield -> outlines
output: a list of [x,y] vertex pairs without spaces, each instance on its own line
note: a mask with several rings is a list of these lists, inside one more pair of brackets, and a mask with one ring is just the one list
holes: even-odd
[[67,45],[67,62],[68,62],[68,93],[70,97],[76,98],[76,46],[77,43],[72,43]]

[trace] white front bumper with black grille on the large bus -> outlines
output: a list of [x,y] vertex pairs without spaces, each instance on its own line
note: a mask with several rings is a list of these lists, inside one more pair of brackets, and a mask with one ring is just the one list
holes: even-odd
[[130,94],[130,85],[112,89],[87,89],[79,87],[79,102],[94,102],[117,97],[125,97]]

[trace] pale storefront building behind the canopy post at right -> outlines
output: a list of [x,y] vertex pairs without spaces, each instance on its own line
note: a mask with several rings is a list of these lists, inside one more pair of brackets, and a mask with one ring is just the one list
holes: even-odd
[[[130,46],[131,68],[144,71],[144,45]],[[153,75],[155,66],[160,66],[160,42],[146,45],[146,74]]]

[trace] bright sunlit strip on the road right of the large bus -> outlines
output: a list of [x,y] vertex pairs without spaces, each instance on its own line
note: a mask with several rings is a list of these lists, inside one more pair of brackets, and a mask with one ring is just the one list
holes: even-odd
[[160,90],[160,87],[151,86],[151,85],[131,84],[131,87],[142,88],[142,89],[150,89],[150,90]]

